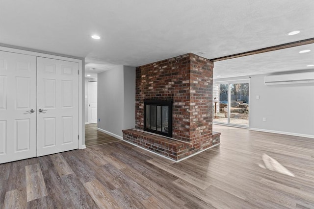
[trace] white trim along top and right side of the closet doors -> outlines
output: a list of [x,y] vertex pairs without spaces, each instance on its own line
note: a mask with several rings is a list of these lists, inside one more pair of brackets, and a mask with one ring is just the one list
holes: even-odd
[[[83,139],[85,140],[85,135],[83,134],[83,105],[82,105],[82,74],[83,74],[83,69],[82,69],[82,59],[76,59],[76,58],[70,58],[67,57],[66,55],[64,56],[57,56],[57,55],[52,55],[47,53],[41,53],[41,52],[35,52],[35,51],[28,51],[28,50],[22,50],[22,49],[17,49],[17,48],[10,48],[10,47],[4,47],[0,46],[1,51],[7,51],[7,52],[12,52],[12,53],[18,53],[18,54],[26,54],[26,55],[32,55],[36,57],[45,57],[45,58],[51,58],[51,59],[57,59],[57,60],[65,60],[65,61],[70,61],[70,62],[76,62],[78,63],[78,135],[81,136],[78,139],[78,149],[83,149]],[[29,49],[31,50],[31,49]]]

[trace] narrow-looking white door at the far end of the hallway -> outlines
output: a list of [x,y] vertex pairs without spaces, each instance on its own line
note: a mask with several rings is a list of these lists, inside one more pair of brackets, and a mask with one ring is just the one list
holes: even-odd
[[88,81],[88,123],[97,123],[97,82]]

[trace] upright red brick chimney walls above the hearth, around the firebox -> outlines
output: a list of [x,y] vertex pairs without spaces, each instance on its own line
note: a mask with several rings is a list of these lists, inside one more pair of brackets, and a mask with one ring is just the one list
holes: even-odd
[[194,141],[196,149],[202,146],[201,139],[209,141],[212,69],[210,60],[192,53],[137,67],[136,128],[144,126],[144,99],[173,99],[172,137]]

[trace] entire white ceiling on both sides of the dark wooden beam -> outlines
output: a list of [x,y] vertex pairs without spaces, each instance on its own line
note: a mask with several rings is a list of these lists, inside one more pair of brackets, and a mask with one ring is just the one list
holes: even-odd
[[[0,43],[84,57],[87,72],[100,72],[314,38],[313,17],[314,0],[0,0]],[[302,70],[313,60],[313,45],[298,46],[215,62],[214,76]]]

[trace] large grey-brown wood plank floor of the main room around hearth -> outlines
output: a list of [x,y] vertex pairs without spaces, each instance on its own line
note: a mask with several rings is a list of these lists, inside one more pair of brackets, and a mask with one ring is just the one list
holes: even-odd
[[314,208],[314,139],[213,130],[179,163],[118,141],[0,164],[0,208]]

